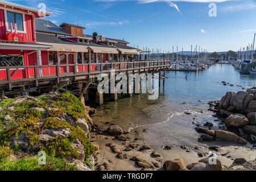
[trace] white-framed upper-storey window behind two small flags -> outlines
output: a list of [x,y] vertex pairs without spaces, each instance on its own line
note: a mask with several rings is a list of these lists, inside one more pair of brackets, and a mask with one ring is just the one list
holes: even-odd
[[17,30],[24,31],[22,14],[7,11],[7,20],[8,20],[9,29],[11,29],[10,28],[11,23],[13,23],[13,27],[14,27],[14,24],[16,23]]

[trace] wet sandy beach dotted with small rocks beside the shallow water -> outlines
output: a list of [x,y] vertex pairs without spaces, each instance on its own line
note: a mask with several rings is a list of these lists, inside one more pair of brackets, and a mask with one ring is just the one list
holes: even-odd
[[[100,150],[97,151],[96,167],[97,165],[106,163],[109,166],[106,170],[111,171],[142,170],[142,167],[137,166],[137,164],[129,160],[137,155],[143,159],[157,163],[159,167],[155,167],[153,170],[163,170],[163,164],[166,160],[181,158],[184,160],[185,165],[188,165],[198,162],[200,159],[207,158],[210,151],[208,147],[220,146],[218,152],[210,152],[213,152],[216,158],[221,161],[225,170],[255,170],[256,150],[251,148],[251,144],[241,145],[226,141],[198,142],[200,134],[196,132],[196,126],[192,122],[197,121],[200,125],[203,125],[207,121],[214,123],[214,119],[216,118],[212,117],[210,113],[176,115],[170,121],[161,122],[157,125],[137,127],[131,130],[129,134],[123,135],[129,138],[126,142],[115,139],[108,134],[98,135],[92,133],[95,136],[92,139],[94,141],[93,144],[97,144],[100,147]],[[172,125],[168,122],[172,122]],[[95,119],[94,123],[97,123]],[[216,121],[213,128],[217,128],[219,126],[218,123],[221,122]],[[108,129],[110,125],[111,122],[101,126],[104,129]],[[168,132],[166,132],[167,130]],[[135,138],[139,140],[134,141]],[[128,155],[128,159],[119,159],[116,156],[117,154],[114,154],[110,150],[110,147],[106,146],[107,143],[113,143],[121,151],[126,146],[129,146],[130,143],[136,143],[138,147],[131,151],[123,151],[123,153]],[[149,144],[151,150],[139,151],[139,147],[143,144]],[[164,148],[167,145],[171,146],[171,150]],[[181,146],[185,146],[186,148],[181,148]],[[153,158],[151,155],[152,151],[159,152],[161,157]],[[198,154],[203,154],[203,156],[199,156]],[[234,163],[234,159],[236,158],[245,158],[249,163],[236,164]],[[109,162],[109,160],[112,161]]]

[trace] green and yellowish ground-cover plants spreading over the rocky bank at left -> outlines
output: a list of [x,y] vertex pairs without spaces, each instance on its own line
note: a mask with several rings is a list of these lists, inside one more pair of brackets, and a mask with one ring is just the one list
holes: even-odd
[[[5,103],[5,106],[8,105],[8,102]],[[6,162],[6,159],[12,152],[24,151],[36,155],[38,149],[45,151],[52,162],[50,166],[46,166],[44,169],[58,170],[58,166],[69,169],[61,161],[66,156],[79,157],[77,150],[71,147],[71,144],[76,139],[79,139],[84,145],[85,156],[87,158],[94,153],[94,148],[90,144],[86,133],[79,126],[73,126],[73,123],[59,119],[63,113],[67,113],[74,120],[84,117],[87,121],[84,106],[73,94],[65,92],[56,96],[44,96],[38,98],[38,101],[25,100],[12,106],[14,106],[14,110],[8,110],[7,108],[0,110],[0,145],[2,146],[0,147],[0,166],[3,164],[2,169],[19,169],[19,167],[23,170],[42,169],[42,166],[36,166],[36,160],[34,158]],[[43,107],[46,111],[30,109],[31,107]],[[51,109],[47,111],[48,108],[57,108],[58,110]],[[47,114],[48,117],[46,117]],[[4,118],[6,115],[10,115],[13,119],[11,121],[5,121]],[[45,144],[39,143],[43,130],[65,128],[69,128],[71,132],[69,137],[55,137],[48,140]],[[24,135],[28,139],[26,148],[21,148],[16,144],[15,146],[11,146],[10,149],[7,146],[10,137],[14,135],[18,137],[22,132],[24,132]],[[31,164],[31,167],[28,167],[28,164]],[[56,167],[54,167],[55,164],[57,165]]]

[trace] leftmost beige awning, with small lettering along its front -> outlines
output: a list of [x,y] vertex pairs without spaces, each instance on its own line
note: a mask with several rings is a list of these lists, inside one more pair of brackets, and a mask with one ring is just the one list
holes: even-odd
[[86,46],[75,45],[75,44],[55,44],[47,43],[53,48],[48,49],[47,51],[64,51],[64,52],[88,52]]

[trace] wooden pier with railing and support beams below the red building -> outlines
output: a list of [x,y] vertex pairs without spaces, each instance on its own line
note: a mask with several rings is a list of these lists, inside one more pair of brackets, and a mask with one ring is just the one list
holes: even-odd
[[[88,100],[88,89],[97,89],[97,75],[106,73],[110,76],[110,71],[115,70],[118,73],[157,73],[159,79],[164,80],[166,69],[170,68],[171,61],[129,61],[129,62],[113,62],[113,63],[89,63],[89,64],[61,64],[61,65],[30,65],[30,66],[10,66],[0,67],[6,70],[7,78],[0,80],[1,96],[4,98],[9,95],[28,95],[30,93],[39,92],[47,93],[50,91],[68,91],[75,94],[82,102]],[[94,70],[92,71],[92,67]],[[95,70],[95,66],[97,69]],[[68,67],[73,72],[61,72],[61,67]],[[73,69],[71,69],[73,67]],[[78,67],[85,67],[86,72],[80,72]],[[11,75],[11,70],[22,69],[29,77],[15,79]],[[51,69],[55,74],[40,75],[41,69]],[[163,74],[161,74],[163,71]],[[97,97],[98,96],[98,97]],[[113,100],[117,99],[117,95],[111,96]],[[103,95],[96,93],[96,102],[99,105],[103,103]]]

